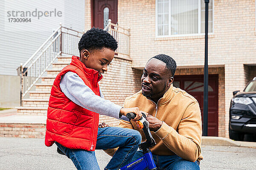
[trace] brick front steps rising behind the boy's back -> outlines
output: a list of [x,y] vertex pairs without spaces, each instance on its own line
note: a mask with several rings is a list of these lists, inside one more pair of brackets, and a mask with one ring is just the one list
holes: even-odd
[[16,107],[17,114],[0,117],[0,136],[44,138],[50,89],[57,74],[70,62],[71,55],[59,56],[41,82],[35,83],[35,91],[28,92],[29,98],[23,98],[23,106]]

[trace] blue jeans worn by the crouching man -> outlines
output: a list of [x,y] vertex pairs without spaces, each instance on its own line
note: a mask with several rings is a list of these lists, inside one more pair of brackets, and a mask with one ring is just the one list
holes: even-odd
[[[186,161],[177,155],[153,155],[157,170],[200,170],[199,162]],[[133,161],[143,156],[142,151],[137,151]]]

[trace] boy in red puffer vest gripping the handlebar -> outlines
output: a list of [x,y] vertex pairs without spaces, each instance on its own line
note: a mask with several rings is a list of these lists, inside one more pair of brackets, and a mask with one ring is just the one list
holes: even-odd
[[[45,145],[55,142],[78,170],[99,170],[94,150],[119,147],[105,170],[118,170],[131,162],[141,142],[136,130],[99,128],[99,114],[121,119],[127,113],[141,118],[139,108],[122,108],[103,99],[99,88],[117,48],[106,31],[92,28],[79,41],[80,57],[73,56],[52,85],[47,111]],[[99,114],[98,114],[99,113]]]

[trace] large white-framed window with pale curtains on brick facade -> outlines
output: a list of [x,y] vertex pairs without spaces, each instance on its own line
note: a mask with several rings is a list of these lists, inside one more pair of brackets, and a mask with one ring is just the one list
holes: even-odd
[[[212,33],[213,27],[212,1],[209,1],[209,33]],[[157,36],[168,37],[185,34],[202,34],[204,32],[204,0],[156,0]]]

